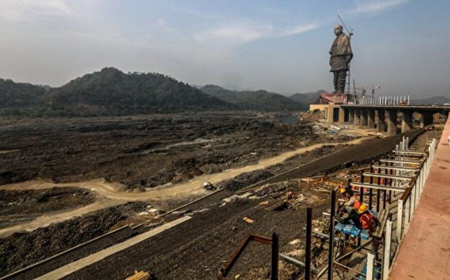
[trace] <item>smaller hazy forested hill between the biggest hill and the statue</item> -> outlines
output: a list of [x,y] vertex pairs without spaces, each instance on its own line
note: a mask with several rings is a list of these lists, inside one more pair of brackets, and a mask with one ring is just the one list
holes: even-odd
[[284,95],[265,90],[236,91],[224,89],[217,85],[205,85],[201,91],[215,96],[225,102],[235,104],[239,109],[264,111],[303,110],[304,104],[292,101]]

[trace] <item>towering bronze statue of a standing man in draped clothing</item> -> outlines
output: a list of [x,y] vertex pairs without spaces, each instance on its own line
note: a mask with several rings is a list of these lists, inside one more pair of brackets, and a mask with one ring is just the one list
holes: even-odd
[[350,47],[350,37],[342,32],[342,25],[334,26],[336,38],[329,49],[330,72],[333,72],[334,92],[343,93],[345,89],[345,79],[347,77],[348,63],[350,63],[353,53]]

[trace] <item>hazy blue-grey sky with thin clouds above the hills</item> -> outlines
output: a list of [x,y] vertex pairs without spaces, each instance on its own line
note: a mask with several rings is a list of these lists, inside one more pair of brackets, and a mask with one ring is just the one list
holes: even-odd
[[450,96],[448,0],[0,0],[0,77],[62,85],[104,66],[190,84],[332,89],[339,13],[351,75],[381,93]]

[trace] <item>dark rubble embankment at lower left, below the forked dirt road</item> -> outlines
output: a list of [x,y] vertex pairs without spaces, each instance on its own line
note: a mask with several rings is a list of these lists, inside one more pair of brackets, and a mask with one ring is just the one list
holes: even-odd
[[138,212],[146,204],[128,202],[88,216],[75,217],[31,232],[0,239],[0,275],[8,274],[105,234],[114,225]]

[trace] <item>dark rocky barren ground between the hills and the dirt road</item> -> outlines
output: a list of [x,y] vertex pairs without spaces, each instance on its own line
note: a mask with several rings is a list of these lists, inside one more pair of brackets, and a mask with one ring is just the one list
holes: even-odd
[[273,116],[198,113],[0,121],[0,184],[104,177],[129,188],[245,166],[316,141]]

